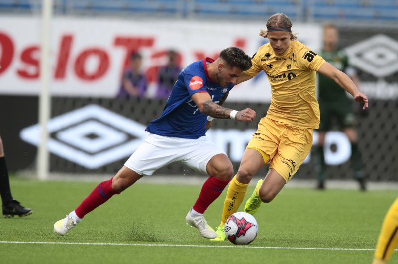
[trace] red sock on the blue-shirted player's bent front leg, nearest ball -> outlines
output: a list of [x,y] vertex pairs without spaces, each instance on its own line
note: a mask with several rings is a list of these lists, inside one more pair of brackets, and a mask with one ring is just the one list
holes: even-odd
[[199,197],[193,206],[198,213],[204,213],[207,207],[217,199],[229,181],[210,176],[203,184]]

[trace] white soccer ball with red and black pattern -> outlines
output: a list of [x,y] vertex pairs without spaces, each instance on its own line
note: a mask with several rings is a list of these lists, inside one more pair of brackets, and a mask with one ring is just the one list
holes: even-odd
[[225,236],[233,244],[249,244],[257,237],[258,226],[253,215],[236,212],[225,223]]

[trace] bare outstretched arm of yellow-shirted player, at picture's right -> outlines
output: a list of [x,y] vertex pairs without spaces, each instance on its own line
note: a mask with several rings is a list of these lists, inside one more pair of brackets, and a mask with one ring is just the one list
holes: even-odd
[[368,108],[368,97],[355,86],[354,82],[347,74],[338,70],[328,62],[324,62],[323,65],[320,66],[318,72],[331,78],[340,87],[349,92],[354,97],[354,101],[363,103],[364,106],[362,109]]

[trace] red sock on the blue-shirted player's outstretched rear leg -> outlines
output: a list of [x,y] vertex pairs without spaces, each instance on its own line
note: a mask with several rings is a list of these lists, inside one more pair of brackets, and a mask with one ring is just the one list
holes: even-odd
[[93,211],[109,200],[115,193],[112,190],[112,180],[101,182],[96,188],[82,201],[82,203],[75,209],[76,215],[83,218],[86,214]]

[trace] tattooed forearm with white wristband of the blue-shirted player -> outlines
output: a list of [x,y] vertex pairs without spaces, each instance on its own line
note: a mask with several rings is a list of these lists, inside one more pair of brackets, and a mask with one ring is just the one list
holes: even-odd
[[[236,110],[225,108],[214,103],[208,93],[195,93],[192,99],[199,108],[199,111],[211,117],[219,119],[230,119]],[[238,121],[252,122],[256,117],[256,112],[250,108],[246,108],[234,114],[234,119]]]

